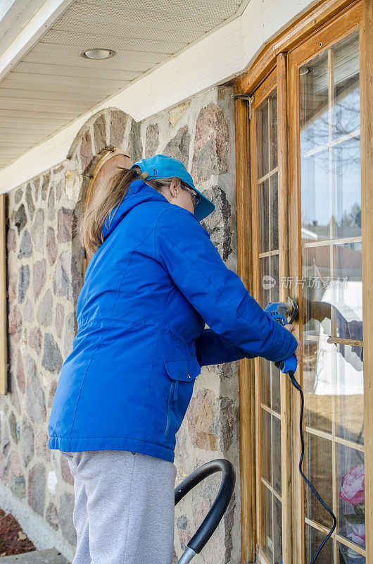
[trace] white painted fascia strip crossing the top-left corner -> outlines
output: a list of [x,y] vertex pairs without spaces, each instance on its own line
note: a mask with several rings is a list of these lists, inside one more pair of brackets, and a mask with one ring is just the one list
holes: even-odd
[[30,51],[74,0],[46,0],[0,56],[0,80]]

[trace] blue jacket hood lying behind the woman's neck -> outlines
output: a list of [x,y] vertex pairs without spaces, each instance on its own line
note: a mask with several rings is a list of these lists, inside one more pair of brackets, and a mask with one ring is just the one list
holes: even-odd
[[120,202],[119,206],[116,206],[111,210],[108,217],[103,222],[102,226],[102,237],[105,239],[118,225],[118,223],[123,219],[125,214],[129,212],[133,207],[141,204],[142,202],[168,202],[167,198],[151,188],[148,184],[144,183],[143,180],[134,180],[134,182],[129,184],[127,193]]

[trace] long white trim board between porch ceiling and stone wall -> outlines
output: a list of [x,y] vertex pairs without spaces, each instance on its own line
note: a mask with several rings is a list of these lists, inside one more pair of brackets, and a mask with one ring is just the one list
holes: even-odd
[[250,0],[240,16],[133,80],[119,94],[108,97],[1,169],[0,193],[63,162],[82,125],[98,111],[115,107],[135,121],[144,121],[238,76],[265,44],[312,4],[315,1]]

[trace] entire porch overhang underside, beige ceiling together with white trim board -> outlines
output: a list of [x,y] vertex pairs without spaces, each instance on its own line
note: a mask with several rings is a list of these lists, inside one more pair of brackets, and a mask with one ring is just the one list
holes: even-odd
[[[141,121],[239,75],[312,3],[70,2],[0,82],[0,193],[61,163],[101,109],[116,107]],[[93,47],[118,54],[80,57]]]

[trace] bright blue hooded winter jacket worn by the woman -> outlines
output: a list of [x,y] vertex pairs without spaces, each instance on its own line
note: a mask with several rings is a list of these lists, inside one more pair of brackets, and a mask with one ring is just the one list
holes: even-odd
[[[175,433],[206,364],[296,349],[187,209],[135,180],[103,226],[77,300],[49,448],[174,460]],[[205,322],[210,329],[205,329]]]

